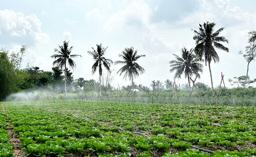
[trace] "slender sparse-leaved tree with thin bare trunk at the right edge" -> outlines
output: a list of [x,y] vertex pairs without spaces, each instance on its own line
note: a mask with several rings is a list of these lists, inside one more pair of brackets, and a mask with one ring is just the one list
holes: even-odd
[[246,86],[245,84],[248,78],[249,63],[252,60],[255,60],[255,57],[256,57],[256,39],[253,39],[253,35],[255,34],[253,34],[253,31],[248,32],[248,34],[249,34],[249,39],[248,39],[249,45],[245,47],[245,52],[242,52],[241,50],[239,51],[239,53],[243,55],[243,57],[247,62],[246,77],[245,77],[244,85],[242,85],[243,87]]

